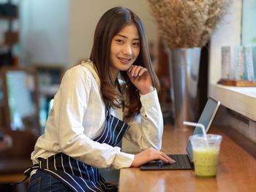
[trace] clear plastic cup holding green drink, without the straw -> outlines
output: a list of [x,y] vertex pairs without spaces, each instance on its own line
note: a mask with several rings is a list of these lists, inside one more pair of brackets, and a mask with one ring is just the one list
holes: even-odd
[[215,177],[219,161],[219,146],[222,136],[217,134],[196,134],[189,137],[193,150],[195,175],[197,177]]

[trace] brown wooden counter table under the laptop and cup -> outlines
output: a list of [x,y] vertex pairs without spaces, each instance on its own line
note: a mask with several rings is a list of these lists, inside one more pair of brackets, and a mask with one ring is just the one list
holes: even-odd
[[[121,169],[119,191],[256,191],[256,145],[230,128],[211,128],[211,134],[223,137],[217,177],[195,177],[194,170],[140,171]],[[162,151],[186,153],[191,131],[178,131],[165,126]]]

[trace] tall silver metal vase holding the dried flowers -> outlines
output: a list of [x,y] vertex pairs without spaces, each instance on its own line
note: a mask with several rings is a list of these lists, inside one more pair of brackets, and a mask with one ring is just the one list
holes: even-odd
[[195,122],[199,112],[200,52],[200,47],[168,49],[174,127],[182,131],[189,129],[183,122]]

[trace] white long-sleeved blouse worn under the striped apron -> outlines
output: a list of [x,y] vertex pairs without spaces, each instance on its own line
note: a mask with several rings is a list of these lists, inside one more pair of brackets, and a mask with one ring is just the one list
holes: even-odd
[[[111,108],[111,115],[124,120],[130,128],[124,136],[145,150],[162,146],[163,120],[157,91],[140,95],[140,115],[125,119],[123,110]],[[105,104],[100,93],[100,82],[91,62],[82,62],[67,70],[54,96],[42,134],[31,153],[31,160],[65,153],[99,169],[121,169],[132,164],[134,155],[121,152],[120,147],[94,142],[105,126]]]

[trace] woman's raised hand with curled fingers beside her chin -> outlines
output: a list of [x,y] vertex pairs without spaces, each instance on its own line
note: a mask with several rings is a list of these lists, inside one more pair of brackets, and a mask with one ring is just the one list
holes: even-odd
[[143,66],[132,65],[127,70],[127,74],[133,85],[140,91],[140,94],[145,95],[154,91],[148,70]]

